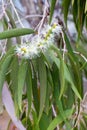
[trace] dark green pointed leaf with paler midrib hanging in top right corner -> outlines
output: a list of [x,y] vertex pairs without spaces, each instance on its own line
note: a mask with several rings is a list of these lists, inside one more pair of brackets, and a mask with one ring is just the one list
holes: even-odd
[[85,20],[85,4],[86,0],[77,0],[73,2],[72,10],[73,10],[73,18],[74,23],[78,32],[78,39],[80,38],[82,34],[82,29],[84,25]]

